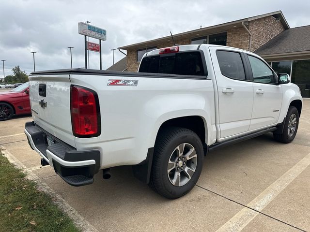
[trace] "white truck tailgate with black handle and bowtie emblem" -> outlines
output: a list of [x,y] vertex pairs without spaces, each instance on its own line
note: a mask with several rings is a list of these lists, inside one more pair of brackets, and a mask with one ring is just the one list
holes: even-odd
[[69,74],[33,75],[29,80],[31,113],[35,124],[75,147]]

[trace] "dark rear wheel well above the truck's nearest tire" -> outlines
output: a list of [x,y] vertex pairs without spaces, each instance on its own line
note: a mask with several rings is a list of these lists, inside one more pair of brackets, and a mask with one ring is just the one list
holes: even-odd
[[183,127],[194,131],[201,139],[202,144],[205,144],[205,129],[204,122],[201,116],[185,116],[169,119],[160,126],[159,131],[171,126]]

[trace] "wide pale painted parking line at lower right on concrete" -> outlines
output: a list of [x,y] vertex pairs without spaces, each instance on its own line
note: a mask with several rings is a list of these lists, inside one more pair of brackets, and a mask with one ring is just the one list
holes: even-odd
[[[235,216],[222,225],[217,232],[239,232],[260,214],[279,193],[310,165],[310,153],[295,164],[289,171],[266,188],[260,195],[248,203]],[[296,227],[295,227],[296,228]],[[299,229],[299,228],[296,228]],[[300,229],[299,229],[300,230]],[[302,230],[301,230],[302,231]]]

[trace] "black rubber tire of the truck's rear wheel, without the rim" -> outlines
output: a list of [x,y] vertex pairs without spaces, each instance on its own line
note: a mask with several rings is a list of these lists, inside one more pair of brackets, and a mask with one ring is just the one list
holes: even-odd
[[[196,167],[194,172],[191,171],[192,176],[191,178],[188,178],[189,180],[187,180],[186,179],[187,177],[185,177],[186,169],[184,168],[183,170],[184,173],[183,175],[180,174],[180,176],[183,176],[182,177],[183,180],[185,180],[185,182],[186,181],[188,182],[186,182],[186,184],[184,184],[183,186],[175,186],[172,184],[169,177],[171,173],[170,174],[168,173],[168,166],[167,166],[168,162],[172,159],[171,157],[173,155],[173,152],[176,151],[179,145],[184,145],[183,149],[184,153],[188,154],[189,151],[192,151],[192,150],[186,151],[186,146],[190,145],[191,149],[194,148],[195,149],[194,151],[197,154],[197,158],[194,157],[194,155],[191,158],[186,158],[186,160],[191,159],[191,161],[187,160],[186,164],[183,167],[186,167],[186,165],[188,165],[189,167],[191,163],[194,163],[193,160],[195,160],[196,162]],[[191,155],[188,155],[187,157],[190,156]],[[176,159],[178,159],[178,157],[179,156],[177,156]],[[182,157],[182,159],[183,158],[184,157]],[[152,171],[149,186],[163,197],[169,199],[176,199],[182,197],[183,195],[188,193],[192,188],[194,188],[195,184],[197,183],[199,176],[202,172],[202,161],[203,161],[202,141],[195,132],[185,128],[178,128],[178,127],[166,128],[163,131],[159,132],[155,142],[154,159],[152,163]],[[172,172],[173,171],[177,172],[176,167],[175,170],[173,168]],[[179,179],[179,185],[180,183],[181,183],[181,177]]]

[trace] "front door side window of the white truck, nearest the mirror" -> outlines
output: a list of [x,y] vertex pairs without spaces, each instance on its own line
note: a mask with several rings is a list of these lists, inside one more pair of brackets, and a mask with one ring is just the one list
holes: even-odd
[[253,73],[253,81],[262,83],[275,83],[271,69],[259,58],[248,56]]

